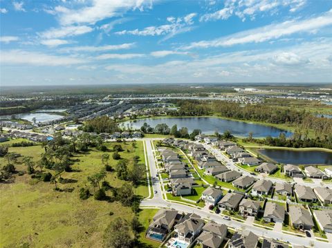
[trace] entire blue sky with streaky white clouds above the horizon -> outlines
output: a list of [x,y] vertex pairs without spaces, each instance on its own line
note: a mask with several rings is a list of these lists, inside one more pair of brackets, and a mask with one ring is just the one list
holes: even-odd
[[332,82],[332,0],[0,0],[2,86]]

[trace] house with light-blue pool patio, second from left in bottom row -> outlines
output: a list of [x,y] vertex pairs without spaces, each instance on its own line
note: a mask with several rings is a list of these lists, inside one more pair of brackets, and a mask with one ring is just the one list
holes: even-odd
[[175,225],[174,231],[178,235],[178,240],[182,240],[190,244],[199,236],[204,226],[204,220],[195,213],[187,213],[181,222]]

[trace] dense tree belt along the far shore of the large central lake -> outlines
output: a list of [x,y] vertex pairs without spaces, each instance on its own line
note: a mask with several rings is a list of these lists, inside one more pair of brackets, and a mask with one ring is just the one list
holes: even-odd
[[226,101],[176,100],[178,111],[168,111],[174,116],[220,115],[236,120],[252,120],[270,124],[290,124],[296,126],[302,137],[307,137],[313,130],[317,137],[326,139],[332,135],[332,119],[315,117],[305,110],[266,106],[264,104],[247,104],[245,106]]

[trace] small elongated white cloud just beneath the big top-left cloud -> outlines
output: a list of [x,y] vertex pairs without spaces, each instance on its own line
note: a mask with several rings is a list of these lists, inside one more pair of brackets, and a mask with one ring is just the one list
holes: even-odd
[[62,37],[72,37],[77,35],[84,35],[92,32],[93,28],[89,26],[66,26],[61,28],[50,28],[39,35],[44,39],[57,39]]

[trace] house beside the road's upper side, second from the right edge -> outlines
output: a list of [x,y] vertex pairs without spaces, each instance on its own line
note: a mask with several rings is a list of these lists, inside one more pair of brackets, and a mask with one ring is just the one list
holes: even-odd
[[314,227],[313,218],[308,209],[297,205],[289,206],[289,218],[294,228],[302,230],[311,230]]

